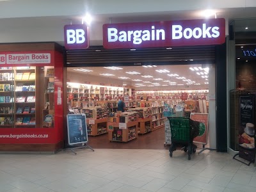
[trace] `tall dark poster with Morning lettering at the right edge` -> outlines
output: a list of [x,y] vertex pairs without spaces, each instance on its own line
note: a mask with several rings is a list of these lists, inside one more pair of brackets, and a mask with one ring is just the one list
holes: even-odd
[[239,157],[255,159],[255,125],[253,95],[239,97]]

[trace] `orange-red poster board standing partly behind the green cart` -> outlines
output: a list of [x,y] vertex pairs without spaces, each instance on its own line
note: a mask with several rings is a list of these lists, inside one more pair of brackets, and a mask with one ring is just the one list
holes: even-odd
[[191,120],[200,122],[199,135],[194,138],[193,142],[207,145],[209,114],[208,113],[190,113]]

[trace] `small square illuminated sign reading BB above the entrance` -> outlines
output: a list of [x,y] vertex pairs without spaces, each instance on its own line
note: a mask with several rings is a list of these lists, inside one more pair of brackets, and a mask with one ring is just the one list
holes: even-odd
[[65,49],[88,49],[89,35],[86,24],[64,26]]

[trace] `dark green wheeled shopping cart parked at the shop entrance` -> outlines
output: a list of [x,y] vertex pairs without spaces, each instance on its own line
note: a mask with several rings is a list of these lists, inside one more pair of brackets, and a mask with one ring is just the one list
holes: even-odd
[[196,145],[193,144],[194,138],[199,134],[199,122],[193,121],[186,117],[168,117],[172,133],[172,145],[170,146],[170,157],[176,150],[176,145],[182,144],[184,152],[188,152],[188,160],[190,155],[196,152]]

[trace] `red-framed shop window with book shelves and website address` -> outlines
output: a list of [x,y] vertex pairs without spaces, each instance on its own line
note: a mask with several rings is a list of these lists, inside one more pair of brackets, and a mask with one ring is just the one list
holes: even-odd
[[63,147],[63,53],[55,43],[0,44],[0,150]]

